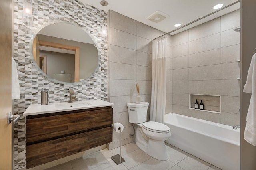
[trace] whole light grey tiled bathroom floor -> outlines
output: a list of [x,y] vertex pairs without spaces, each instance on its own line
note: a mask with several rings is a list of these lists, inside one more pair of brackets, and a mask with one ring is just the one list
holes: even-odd
[[166,151],[168,160],[160,161],[145,154],[133,142],[122,146],[125,162],[119,165],[111,159],[119,154],[116,148],[100,150],[47,170],[220,170],[174,146],[166,144]]

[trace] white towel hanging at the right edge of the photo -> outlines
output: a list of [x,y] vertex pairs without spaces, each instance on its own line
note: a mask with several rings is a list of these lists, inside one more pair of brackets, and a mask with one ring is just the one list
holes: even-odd
[[251,93],[250,105],[246,117],[246,127],[244,139],[256,146],[256,53],[252,56],[252,61],[248,70],[247,80],[244,85],[244,92]]

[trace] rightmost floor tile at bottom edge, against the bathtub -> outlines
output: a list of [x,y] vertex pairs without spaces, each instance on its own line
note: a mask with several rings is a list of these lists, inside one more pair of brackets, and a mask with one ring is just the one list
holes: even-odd
[[208,170],[211,164],[204,162],[203,160],[196,158],[195,156],[188,156],[178,164],[184,170]]

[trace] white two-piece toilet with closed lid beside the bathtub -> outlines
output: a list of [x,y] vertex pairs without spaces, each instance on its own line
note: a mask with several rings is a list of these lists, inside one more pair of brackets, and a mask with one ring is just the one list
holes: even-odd
[[170,138],[170,128],[159,122],[146,122],[148,105],[148,102],[127,103],[129,122],[137,124],[136,145],[153,158],[167,160],[164,140]]

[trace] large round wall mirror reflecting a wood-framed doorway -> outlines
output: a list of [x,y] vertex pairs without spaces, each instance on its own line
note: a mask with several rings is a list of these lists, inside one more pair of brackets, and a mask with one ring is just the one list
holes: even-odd
[[30,51],[33,62],[47,77],[73,83],[98,70],[100,55],[95,44],[80,26],[58,21],[36,30]]

